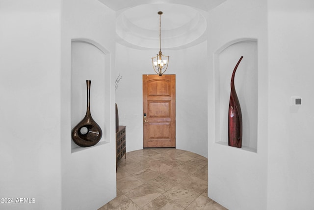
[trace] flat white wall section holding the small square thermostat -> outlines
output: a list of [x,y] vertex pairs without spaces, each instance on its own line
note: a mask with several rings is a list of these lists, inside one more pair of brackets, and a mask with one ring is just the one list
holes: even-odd
[[313,209],[314,1],[268,0],[268,26],[267,209]]

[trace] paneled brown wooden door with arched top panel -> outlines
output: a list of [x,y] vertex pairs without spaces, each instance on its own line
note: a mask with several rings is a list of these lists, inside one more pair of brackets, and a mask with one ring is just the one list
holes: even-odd
[[143,75],[143,146],[176,147],[176,75]]

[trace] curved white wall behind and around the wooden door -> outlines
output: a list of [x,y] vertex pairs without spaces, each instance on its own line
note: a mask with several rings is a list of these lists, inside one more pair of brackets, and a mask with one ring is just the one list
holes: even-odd
[[[127,151],[143,149],[142,75],[155,74],[155,51],[116,46],[116,90],[119,124],[127,126]],[[176,74],[176,148],[207,157],[207,43],[183,50],[162,50],[169,55],[167,74]]]

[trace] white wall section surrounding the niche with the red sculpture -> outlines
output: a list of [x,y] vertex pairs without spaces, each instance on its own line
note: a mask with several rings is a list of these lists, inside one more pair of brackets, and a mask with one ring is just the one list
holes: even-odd
[[[266,1],[226,1],[209,12],[208,21],[208,195],[231,210],[265,210],[268,93]],[[216,91],[215,86],[214,53],[225,44],[242,38],[253,38],[258,41],[257,152],[215,143],[218,135],[217,132],[215,133],[215,128],[219,126],[219,122],[216,122],[214,118],[214,110],[217,106],[214,99],[219,99],[220,95],[217,97],[215,94],[220,93]],[[234,68],[237,60],[235,62],[230,60],[230,62],[233,63]],[[239,79],[235,77],[236,80]],[[230,81],[230,78],[228,80]],[[229,98],[230,92],[226,94]]]

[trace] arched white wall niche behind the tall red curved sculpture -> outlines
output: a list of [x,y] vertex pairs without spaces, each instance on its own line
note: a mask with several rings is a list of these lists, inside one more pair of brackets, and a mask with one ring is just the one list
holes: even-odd
[[242,111],[242,150],[257,152],[258,40],[230,41],[214,53],[215,143],[228,146],[230,82],[237,61],[235,90]]

